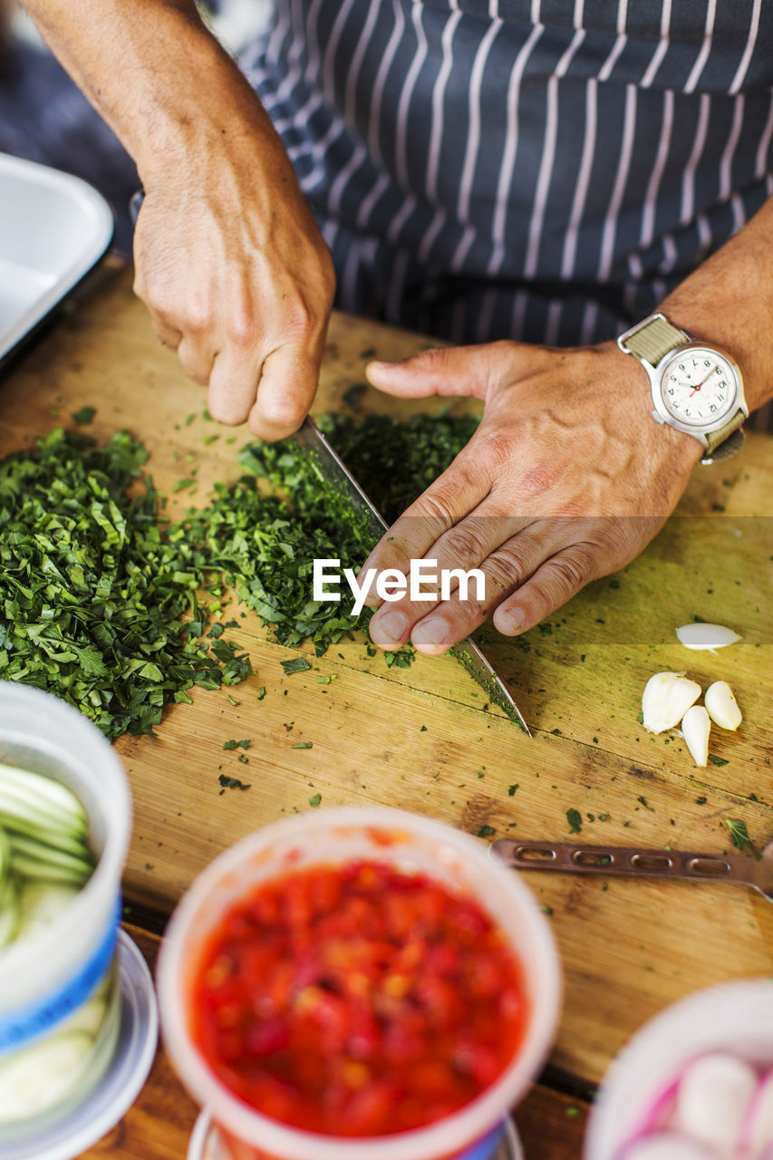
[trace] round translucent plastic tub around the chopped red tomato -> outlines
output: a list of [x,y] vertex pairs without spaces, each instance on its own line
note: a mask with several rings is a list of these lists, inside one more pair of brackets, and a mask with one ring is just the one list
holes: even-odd
[[[221,915],[259,882],[286,870],[375,858],[478,900],[508,937],[523,967],[530,1020],[511,1065],[477,1099],[446,1119],[363,1143],[289,1128],[239,1101],[211,1073],[188,1029],[189,994],[202,945]],[[226,850],[194,882],[167,929],[157,973],[161,1030],[183,1083],[229,1141],[233,1160],[487,1160],[498,1125],[528,1088],[552,1041],[561,973],[552,934],[520,878],[494,865],[468,834],[419,814],[388,809],[323,810],[276,822]],[[477,1153],[477,1154],[476,1154]]]

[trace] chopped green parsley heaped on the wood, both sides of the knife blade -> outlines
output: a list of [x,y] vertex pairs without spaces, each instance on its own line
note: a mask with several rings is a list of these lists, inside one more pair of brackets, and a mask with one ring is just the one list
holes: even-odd
[[[325,429],[391,521],[476,423],[328,416]],[[146,459],[127,433],[100,448],[59,428],[0,462],[0,679],[57,694],[111,739],[151,733],[193,684],[215,689],[251,673],[223,625],[209,628],[203,589],[218,596],[229,583],[280,643],[311,638],[318,655],[370,616],[354,617],[345,599],[311,599],[315,558],[356,568],[374,543],[292,441],[245,447],[245,474],[168,527]]]

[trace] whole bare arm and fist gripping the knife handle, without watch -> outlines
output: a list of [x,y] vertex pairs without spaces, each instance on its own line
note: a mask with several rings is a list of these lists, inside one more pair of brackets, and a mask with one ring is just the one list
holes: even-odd
[[319,377],[331,256],[282,143],[193,0],[24,0],[137,164],[135,289],[209,409],[298,428]]

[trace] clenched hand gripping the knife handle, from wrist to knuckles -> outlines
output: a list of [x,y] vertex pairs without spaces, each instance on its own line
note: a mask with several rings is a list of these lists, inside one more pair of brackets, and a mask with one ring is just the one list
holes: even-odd
[[240,129],[143,174],[135,291],[212,418],[277,440],[311,406],[335,280],[268,118]]

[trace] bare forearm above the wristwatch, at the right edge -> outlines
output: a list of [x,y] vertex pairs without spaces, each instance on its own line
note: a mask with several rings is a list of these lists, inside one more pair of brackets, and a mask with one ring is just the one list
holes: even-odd
[[732,355],[750,411],[773,398],[773,198],[662,309],[674,326]]

